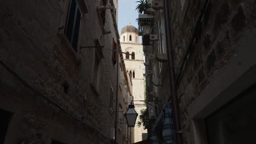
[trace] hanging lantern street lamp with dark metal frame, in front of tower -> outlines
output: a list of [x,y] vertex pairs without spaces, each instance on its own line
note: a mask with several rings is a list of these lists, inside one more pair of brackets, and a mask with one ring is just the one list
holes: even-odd
[[134,108],[135,107],[131,102],[131,104],[128,106],[128,110],[125,113],[128,127],[135,127],[136,118],[138,116],[138,113],[135,111]]

